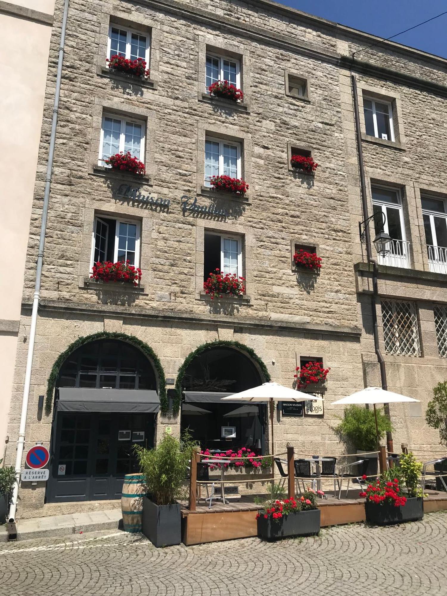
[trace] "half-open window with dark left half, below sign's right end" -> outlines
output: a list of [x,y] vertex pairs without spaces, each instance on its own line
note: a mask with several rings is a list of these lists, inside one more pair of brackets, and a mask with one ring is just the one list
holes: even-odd
[[203,247],[203,280],[219,269],[225,274],[241,277],[242,238],[234,235],[205,232]]

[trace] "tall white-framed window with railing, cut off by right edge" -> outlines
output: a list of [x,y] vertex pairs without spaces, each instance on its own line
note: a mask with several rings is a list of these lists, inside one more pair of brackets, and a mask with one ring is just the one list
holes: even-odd
[[442,198],[421,197],[430,271],[447,273],[447,210]]

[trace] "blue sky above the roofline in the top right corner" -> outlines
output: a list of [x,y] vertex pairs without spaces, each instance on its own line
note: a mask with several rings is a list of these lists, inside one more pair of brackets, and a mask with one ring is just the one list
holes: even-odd
[[[277,0],[278,1],[278,0]],[[387,38],[447,11],[447,0],[279,0],[305,13]],[[447,14],[393,41],[447,58]]]

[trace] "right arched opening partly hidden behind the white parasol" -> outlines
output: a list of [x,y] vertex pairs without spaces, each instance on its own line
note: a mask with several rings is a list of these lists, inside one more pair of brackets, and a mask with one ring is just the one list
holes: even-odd
[[216,342],[201,346],[184,368],[181,432],[188,430],[202,449],[211,452],[246,447],[262,454],[265,406],[221,401],[268,380],[259,359],[237,345]]

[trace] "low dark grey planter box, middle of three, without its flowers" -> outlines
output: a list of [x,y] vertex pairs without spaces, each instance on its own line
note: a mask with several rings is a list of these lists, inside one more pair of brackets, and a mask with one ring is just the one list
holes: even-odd
[[271,516],[265,519],[263,511],[259,512],[261,517],[257,520],[257,535],[264,540],[280,540],[281,538],[293,538],[293,536],[314,536],[318,534],[320,527],[320,510],[299,511],[289,513],[280,519],[272,519]]

